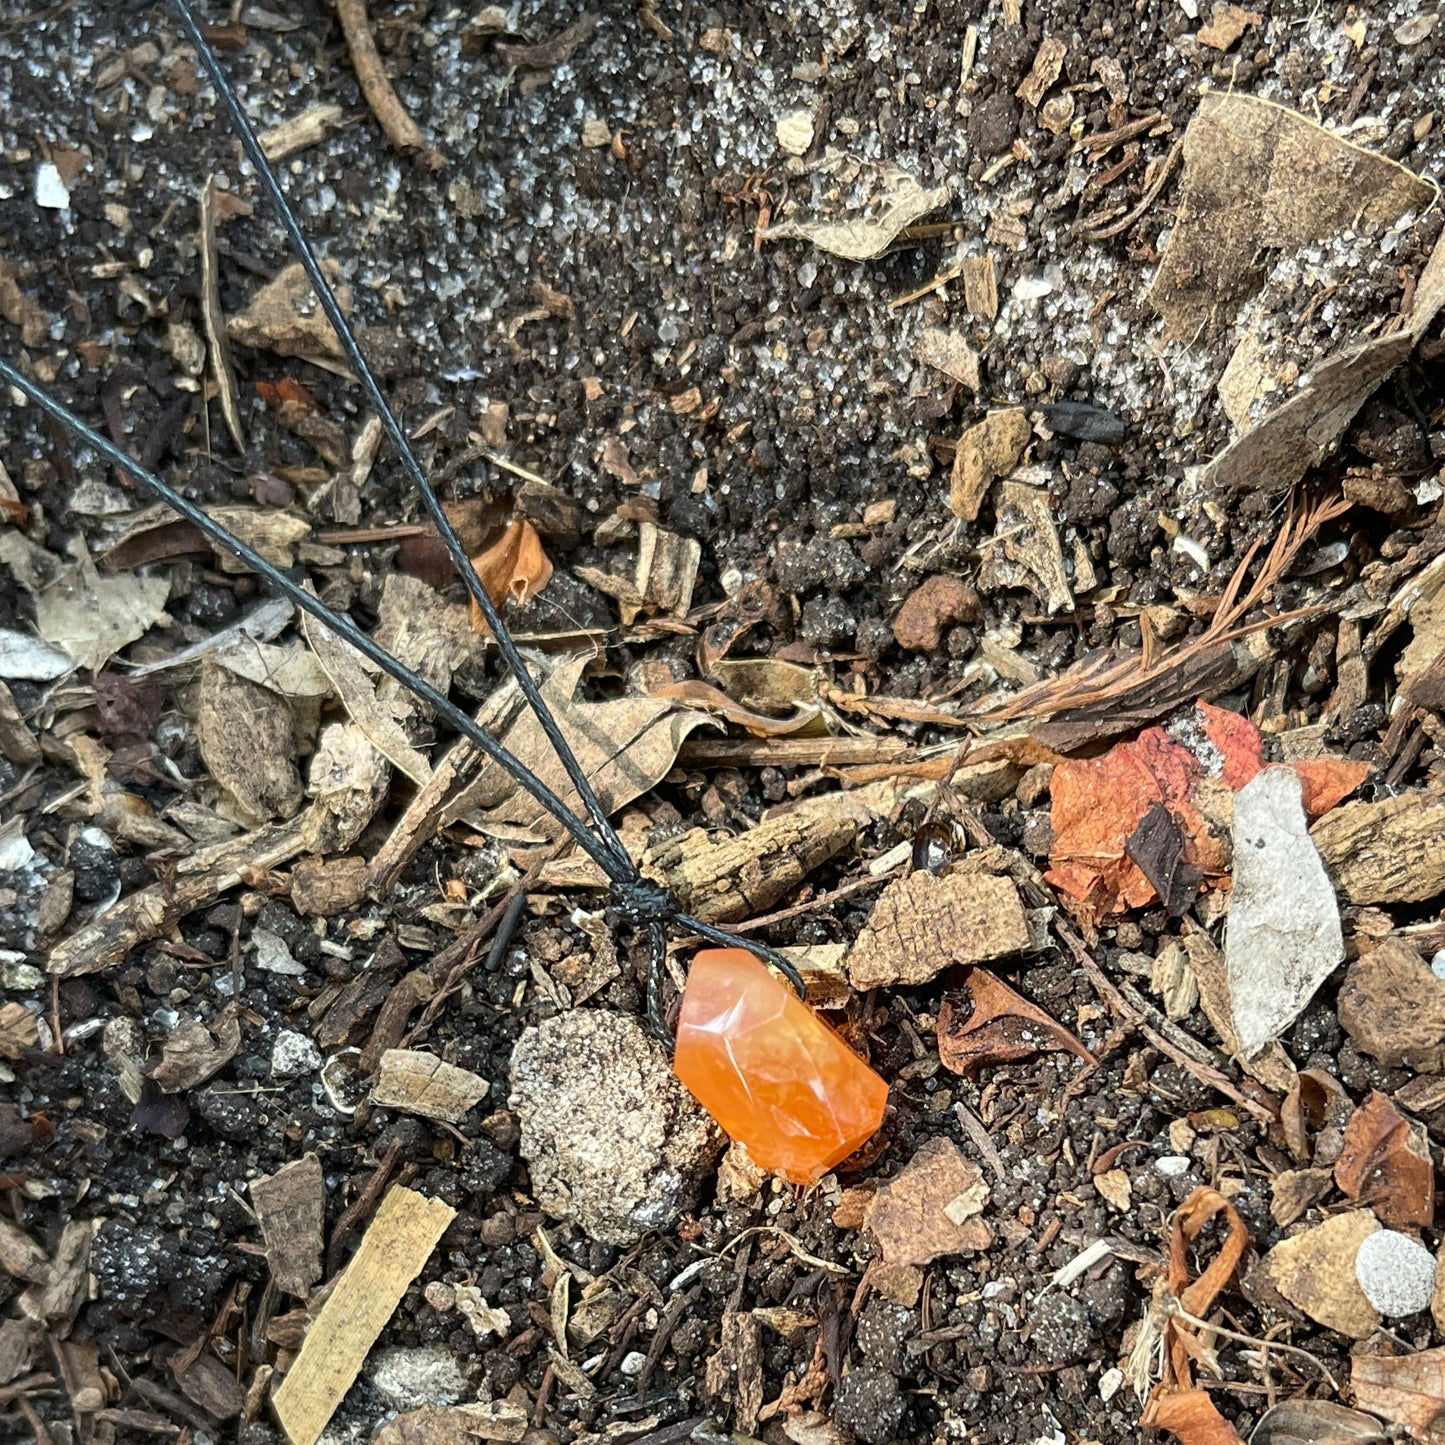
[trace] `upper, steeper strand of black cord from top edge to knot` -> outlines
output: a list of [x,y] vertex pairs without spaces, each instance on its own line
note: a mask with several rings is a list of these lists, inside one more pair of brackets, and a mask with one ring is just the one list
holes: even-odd
[[[538,688],[536,681],[532,678],[526,663],[522,660],[522,655],[517,652],[517,644],[513,642],[512,633],[507,631],[506,626],[503,626],[496,605],[487,595],[487,590],[481,585],[481,578],[477,575],[477,569],[471,565],[471,558],[467,556],[467,549],[461,545],[461,539],[457,536],[457,529],[451,525],[451,520],[442,510],[441,499],[436,496],[432,484],[426,480],[426,474],[422,471],[422,464],[418,461],[416,452],[412,451],[412,444],[407,441],[406,432],[402,431],[402,423],[396,419],[396,413],[381,394],[381,387],[376,380],[376,374],[373,373],[355,334],[341,311],[341,303],[337,301],[335,292],[331,289],[331,283],[321,270],[316,253],[311,249],[311,243],[306,240],[306,234],[301,228],[301,221],[298,220],[290,201],[286,198],[286,192],[280,186],[280,179],[276,175],[275,168],[267,162],[266,155],[262,152],[260,140],[256,137],[250,118],[241,107],[240,97],[236,94],[234,87],[221,69],[215,52],[201,33],[201,26],[197,22],[195,14],[191,12],[186,0],[173,0],[173,4],[176,13],[181,16],[182,26],[191,38],[191,43],[197,49],[201,64],[205,66],[207,75],[211,78],[211,84],[215,87],[217,95],[220,95],[221,103],[230,113],[231,126],[241,142],[241,149],[256,168],[257,178],[270,195],[272,205],[280,218],[282,227],[290,238],[292,250],[296,253],[296,257],[305,269],[312,289],[316,293],[316,299],[321,302],[321,309],[327,314],[327,319],[331,322],[337,337],[341,340],[341,348],[345,351],[347,360],[351,363],[357,379],[361,383],[361,390],[366,393],[367,402],[377,413],[383,429],[390,438],[392,445],[396,448],[402,468],[406,471],[409,481],[422,499],[422,504],[426,507],[426,514],[436,527],[436,532],[442,539],[442,545],[447,548],[447,555],[457,568],[457,574],[461,577],[462,582],[465,582],[467,591],[471,594],[473,601],[475,601],[481,616],[486,618],[487,626],[491,629],[491,636],[497,642],[497,650],[501,653],[501,660],[517,679],[517,686],[522,689],[522,695],[527,699],[529,707],[536,714],[538,724],[546,736],[548,743],[552,746],[552,750],[556,753],[558,760],[562,763],[562,767],[566,772],[572,788],[577,790],[578,798],[582,801],[582,806],[587,809],[587,816],[591,819],[592,828],[597,831],[600,845],[611,855],[611,860],[616,864],[616,868],[607,870],[608,877],[634,877],[637,873],[636,866],[627,855],[627,850],[617,837],[617,832],[607,818],[607,812],[598,801],[597,793],[588,783],[587,775],[582,772],[582,766],[578,763],[572,749],[568,746],[566,738],[562,736],[562,730],[556,725],[556,718],[552,717],[552,709],[546,705],[540,688]],[[592,851],[592,855],[597,855],[595,850]]]

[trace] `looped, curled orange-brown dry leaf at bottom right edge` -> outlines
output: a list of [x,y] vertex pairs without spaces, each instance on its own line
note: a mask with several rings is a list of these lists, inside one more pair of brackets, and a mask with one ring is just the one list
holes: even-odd
[[[1228,1231],[1224,1244],[1205,1272],[1192,1279],[1191,1246],[1217,1215],[1222,1215]],[[1181,1309],[1195,1319],[1207,1319],[1248,1243],[1248,1230],[1234,1205],[1217,1189],[1195,1189],[1175,1211],[1169,1227],[1168,1292]],[[1209,1394],[1194,1387],[1194,1364],[1208,1355],[1208,1337],[1201,1338],[1198,1327],[1172,1311],[1162,1328],[1165,1377],[1150,1393],[1142,1423],[1172,1431],[1185,1445],[1240,1445],[1238,1432],[1220,1415]]]

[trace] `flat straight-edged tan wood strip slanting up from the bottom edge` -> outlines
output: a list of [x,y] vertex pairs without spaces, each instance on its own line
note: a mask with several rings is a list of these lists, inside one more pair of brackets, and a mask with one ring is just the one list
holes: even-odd
[[273,1396],[292,1445],[315,1445],[455,1215],[402,1185],[387,1192]]

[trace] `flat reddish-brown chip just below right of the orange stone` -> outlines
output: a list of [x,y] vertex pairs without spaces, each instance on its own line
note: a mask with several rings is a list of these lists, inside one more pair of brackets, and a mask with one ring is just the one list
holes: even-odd
[[988,1185],[951,1139],[931,1139],[903,1169],[879,1185],[867,1227],[887,1264],[928,1264],[985,1250],[993,1231],[980,1218]]

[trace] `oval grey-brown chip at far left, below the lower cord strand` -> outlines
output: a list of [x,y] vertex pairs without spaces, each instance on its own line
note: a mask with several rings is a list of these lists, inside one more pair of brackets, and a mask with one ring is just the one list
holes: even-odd
[[295,725],[290,707],[277,692],[207,657],[201,665],[197,741],[211,776],[249,818],[296,815],[305,793],[296,767]]

